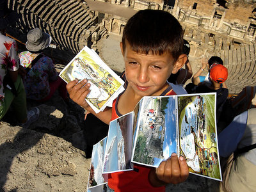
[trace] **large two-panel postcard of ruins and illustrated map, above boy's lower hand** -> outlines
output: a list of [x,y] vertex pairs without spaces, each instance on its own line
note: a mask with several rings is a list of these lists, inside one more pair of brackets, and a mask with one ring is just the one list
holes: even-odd
[[222,180],[215,120],[215,93],[143,97],[132,163],[158,167],[173,152],[189,172]]

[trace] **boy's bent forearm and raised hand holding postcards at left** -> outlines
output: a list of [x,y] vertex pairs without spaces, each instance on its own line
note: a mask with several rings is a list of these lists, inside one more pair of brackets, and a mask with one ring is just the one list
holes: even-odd
[[67,84],[67,91],[69,93],[70,99],[79,104],[82,108],[86,109],[93,115],[97,116],[105,124],[109,124],[112,115],[112,108],[106,108],[104,111],[95,113],[93,109],[86,102],[85,98],[90,93],[90,83],[87,83],[86,79],[78,83],[78,80],[70,81]]

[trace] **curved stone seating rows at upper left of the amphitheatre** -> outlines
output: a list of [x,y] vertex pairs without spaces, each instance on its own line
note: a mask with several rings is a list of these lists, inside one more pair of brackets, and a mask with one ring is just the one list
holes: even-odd
[[17,0],[10,1],[10,7],[19,13],[19,27],[24,33],[41,28],[58,47],[74,53],[80,51],[79,40],[96,19],[90,15],[88,6],[74,0]]

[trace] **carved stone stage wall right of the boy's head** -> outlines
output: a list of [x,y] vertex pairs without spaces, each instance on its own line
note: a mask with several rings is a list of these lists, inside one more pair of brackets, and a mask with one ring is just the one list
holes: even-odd
[[[253,1],[177,1],[175,17],[185,24],[255,42],[256,4]],[[220,3],[219,2],[219,3]]]

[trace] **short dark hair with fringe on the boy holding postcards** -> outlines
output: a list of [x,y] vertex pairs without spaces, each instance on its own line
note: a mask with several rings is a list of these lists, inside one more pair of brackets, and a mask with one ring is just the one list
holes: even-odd
[[125,40],[133,51],[160,55],[168,51],[175,61],[183,50],[182,26],[172,14],[161,10],[140,10],[133,15],[124,28],[124,50]]

